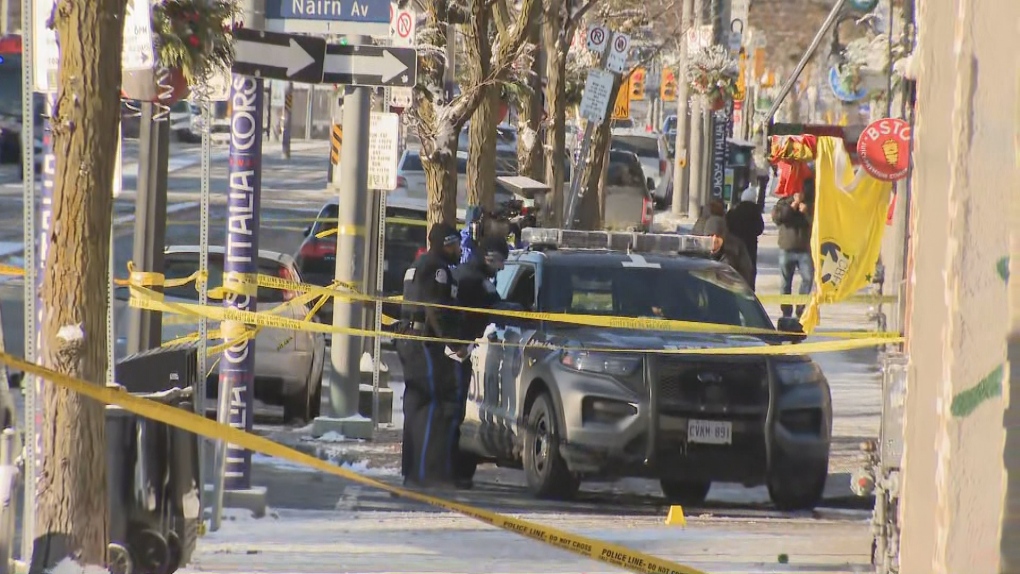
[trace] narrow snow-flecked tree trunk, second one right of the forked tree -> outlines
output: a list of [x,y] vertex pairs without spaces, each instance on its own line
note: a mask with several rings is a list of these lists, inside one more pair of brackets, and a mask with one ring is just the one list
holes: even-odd
[[[542,5],[534,3],[531,16],[528,18],[527,43],[539,46],[542,41]],[[541,52],[543,55],[540,55]],[[542,129],[542,77],[545,73],[543,63],[545,50],[537,51],[531,60],[531,73],[528,76],[528,90],[521,91],[520,109],[517,120],[517,173],[536,180],[545,179],[543,161],[543,129]],[[548,131],[547,131],[548,132]]]

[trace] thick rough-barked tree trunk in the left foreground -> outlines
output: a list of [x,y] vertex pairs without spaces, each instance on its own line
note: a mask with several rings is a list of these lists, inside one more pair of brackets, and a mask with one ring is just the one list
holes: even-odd
[[[124,3],[57,3],[53,232],[42,294],[43,364],[102,384]],[[109,532],[103,405],[44,385],[43,469],[32,571],[71,557],[105,566]],[[30,511],[31,512],[31,511]]]

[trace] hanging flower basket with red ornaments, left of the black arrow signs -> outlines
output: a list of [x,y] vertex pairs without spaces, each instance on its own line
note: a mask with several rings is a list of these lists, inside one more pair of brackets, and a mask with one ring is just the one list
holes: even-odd
[[152,7],[159,63],[195,86],[234,61],[234,0],[162,0]]

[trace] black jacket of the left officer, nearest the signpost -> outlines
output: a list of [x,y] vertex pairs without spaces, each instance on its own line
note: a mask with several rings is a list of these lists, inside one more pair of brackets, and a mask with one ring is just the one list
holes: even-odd
[[[456,298],[457,279],[439,252],[423,253],[404,273],[404,301],[455,306]],[[400,315],[407,322],[425,323],[428,336],[460,338],[461,317],[458,311],[403,305]]]

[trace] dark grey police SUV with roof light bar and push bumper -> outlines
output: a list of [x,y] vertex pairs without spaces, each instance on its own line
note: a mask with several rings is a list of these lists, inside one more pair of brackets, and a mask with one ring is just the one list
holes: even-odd
[[[461,427],[461,449],[475,464],[522,468],[544,498],[569,498],[582,480],[636,476],[658,479],[677,504],[704,502],[714,481],[765,484],[783,510],[820,501],[828,382],[805,356],[712,354],[795,337],[772,325],[733,269],[707,257],[707,238],[523,236],[528,248],[512,252],[497,276],[500,295],[526,310],[607,320],[495,318],[472,352]],[[621,326],[607,326],[611,317]],[[621,317],[724,326],[622,328]],[[668,353],[679,349],[705,353]]]

